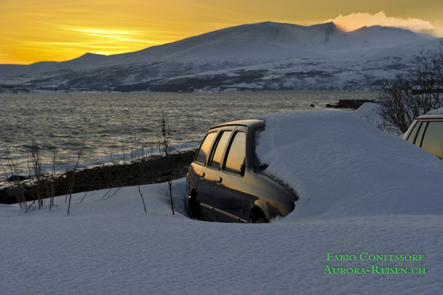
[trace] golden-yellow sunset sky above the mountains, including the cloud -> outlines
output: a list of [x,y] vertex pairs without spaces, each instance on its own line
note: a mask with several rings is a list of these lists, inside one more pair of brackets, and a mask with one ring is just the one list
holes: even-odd
[[380,24],[443,37],[442,0],[0,0],[0,64],[138,51],[212,30],[278,21]]

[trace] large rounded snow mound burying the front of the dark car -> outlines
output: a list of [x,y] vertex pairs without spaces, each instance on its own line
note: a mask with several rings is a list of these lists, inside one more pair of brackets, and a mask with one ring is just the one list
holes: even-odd
[[257,156],[300,199],[287,217],[443,213],[443,163],[350,113],[262,116]]

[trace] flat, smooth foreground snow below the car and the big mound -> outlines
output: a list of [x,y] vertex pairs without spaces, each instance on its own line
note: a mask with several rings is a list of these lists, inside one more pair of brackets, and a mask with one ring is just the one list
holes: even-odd
[[[183,214],[185,179],[64,196],[24,213],[0,206],[1,294],[440,294],[443,216],[222,224]],[[327,253],[420,254],[424,261],[328,261]],[[326,267],[426,274],[325,274]]]

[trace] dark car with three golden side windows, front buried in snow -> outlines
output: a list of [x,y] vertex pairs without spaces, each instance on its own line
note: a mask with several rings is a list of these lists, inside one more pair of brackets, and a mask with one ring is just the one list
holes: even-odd
[[211,127],[186,176],[188,213],[216,222],[269,222],[294,208],[296,194],[263,175],[255,145],[264,120]]

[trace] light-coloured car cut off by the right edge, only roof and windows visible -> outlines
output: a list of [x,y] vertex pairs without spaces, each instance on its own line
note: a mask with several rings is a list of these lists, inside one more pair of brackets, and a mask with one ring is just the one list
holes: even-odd
[[443,114],[415,118],[403,138],[443,159]]

